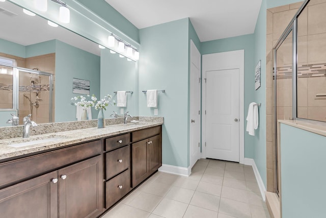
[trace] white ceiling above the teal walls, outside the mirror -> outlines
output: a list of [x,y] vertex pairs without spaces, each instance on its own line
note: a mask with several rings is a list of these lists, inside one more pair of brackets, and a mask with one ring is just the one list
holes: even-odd
[[105,0],[138,29],[189,17],[201,42],[255,31],[262,0]]

